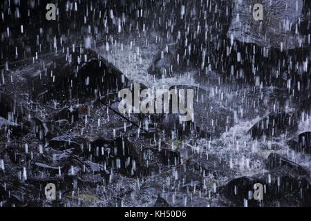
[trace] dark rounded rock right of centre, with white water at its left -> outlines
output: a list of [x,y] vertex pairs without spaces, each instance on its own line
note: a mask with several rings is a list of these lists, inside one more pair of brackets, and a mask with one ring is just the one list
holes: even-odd
[[250,130],[249,134],[254,139],[265,137],[276,137],[282,133],[290,133],[297,129],[296,117],[292,114],[279,111],[270,113],[258,123],[256,123]]

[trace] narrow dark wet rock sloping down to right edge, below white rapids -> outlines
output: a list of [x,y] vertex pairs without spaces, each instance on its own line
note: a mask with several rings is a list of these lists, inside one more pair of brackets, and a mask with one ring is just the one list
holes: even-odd
[[267,157],[267,162],[266,162],[267,169],[277,169],[278,167],[283,167],[285,170],[296,173],[300,176],[309,176],[310,172],[306,171],[303,169],[302,166],[299,164],[296,164],[295,162],[292,162],[290,160],[285,159],[284,157],[281,157],[281,155],[277,153],[271,153]]

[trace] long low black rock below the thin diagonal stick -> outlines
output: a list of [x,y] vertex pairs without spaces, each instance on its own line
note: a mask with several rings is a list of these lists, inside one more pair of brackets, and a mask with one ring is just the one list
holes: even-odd
[[[88,142],[82,137],[60,136],[49,142],[57,151],[70,151],[88,161],[92,171],[115,170],[124,175],[137,176],[144,174],[140,155],[131,143],[122,138],[117,140],[98,139]],[[97,169],[95,169],[97,168]]]

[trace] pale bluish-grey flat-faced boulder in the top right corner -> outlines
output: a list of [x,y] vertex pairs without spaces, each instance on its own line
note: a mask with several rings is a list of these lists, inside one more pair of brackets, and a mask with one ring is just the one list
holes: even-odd
[[[256,3],[263,6],[263,21],[253,18]],[[303,0],[235,1],[228,37],[284,50],[299,47],[299,29],[303,17]],[[283,22],[285,21],[285,22]],[[280,23],[282,24],[280,27]]]

